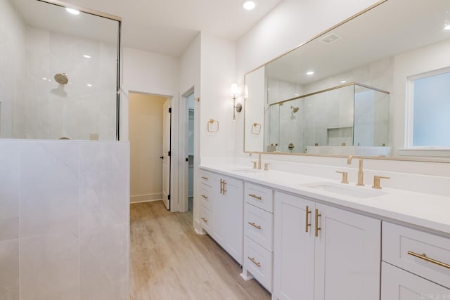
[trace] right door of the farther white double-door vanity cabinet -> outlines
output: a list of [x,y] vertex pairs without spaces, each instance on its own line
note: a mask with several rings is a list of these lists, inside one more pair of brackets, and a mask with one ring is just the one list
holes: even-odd
[[220,231],[224,235],[224,248],[242,266],[244,252],[244,183],[223,176],[224,191],[219,198]]

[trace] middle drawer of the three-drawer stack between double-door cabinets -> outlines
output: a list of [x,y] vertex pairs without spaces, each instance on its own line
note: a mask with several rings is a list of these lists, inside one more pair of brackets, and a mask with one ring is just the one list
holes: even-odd
[[244,209],[245,235],[272,251],[274,214],[248,203],[245,203]]

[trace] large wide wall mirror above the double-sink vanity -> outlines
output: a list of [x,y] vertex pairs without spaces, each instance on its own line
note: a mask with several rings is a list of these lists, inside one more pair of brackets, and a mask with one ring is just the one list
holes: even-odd
[[[244,150],[387,157],[418,150],[409,136],[428,133],[409,131],[409,124],[424,124],[412,120],[420,109],[411,112],[409,81],[450,66],[449,25],[448,0],[380,1],[249,72]],[[442,101],[435,103],[448,115]],[[448,138],[444,127],[433,131]],[[443,150],[428,152],[435,157],[449,150],[425,148]]]

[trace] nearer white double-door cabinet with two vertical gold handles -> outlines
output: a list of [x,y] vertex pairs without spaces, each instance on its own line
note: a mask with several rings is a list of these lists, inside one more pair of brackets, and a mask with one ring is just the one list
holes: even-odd
[[275,192],[273,299],[380,299],[381,222]]

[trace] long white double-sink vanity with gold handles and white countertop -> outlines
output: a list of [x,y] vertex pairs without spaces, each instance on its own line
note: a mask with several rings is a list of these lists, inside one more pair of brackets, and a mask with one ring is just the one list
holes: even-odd
[[449,197],[200,169],[203,229],[272,299],[450,299]]

